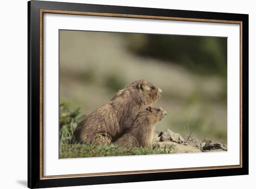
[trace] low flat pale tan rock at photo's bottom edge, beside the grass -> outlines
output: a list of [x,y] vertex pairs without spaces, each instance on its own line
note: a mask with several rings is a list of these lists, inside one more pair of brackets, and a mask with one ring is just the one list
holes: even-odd
[[156,142],[153,145],[153,148],[161,148],[163,150],[168,149],[171,147],[170,153],[194,153],[194,152],[201,152],[199,149],[191,146],[191,145],[182,145],[178,144],[173,141],[163,141],[163,142]]

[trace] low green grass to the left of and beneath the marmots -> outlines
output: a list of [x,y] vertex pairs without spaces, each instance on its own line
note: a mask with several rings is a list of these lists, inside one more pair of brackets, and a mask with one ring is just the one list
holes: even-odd
[[73,132],[84,116],[80,113],[80,108],[72,108],[69,103],[60,103],[60,158],[74,157],[107,157],[107,156],[130,156],[148,154],[171,153],[171,147],[160,148],[132,148],[126,149],[115,145],[90,145],[71,144]]

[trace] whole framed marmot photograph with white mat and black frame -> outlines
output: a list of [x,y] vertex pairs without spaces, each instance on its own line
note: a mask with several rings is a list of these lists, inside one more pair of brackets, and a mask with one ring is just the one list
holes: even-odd
[[28,187],[249,174],[249,15],[28,2]]

